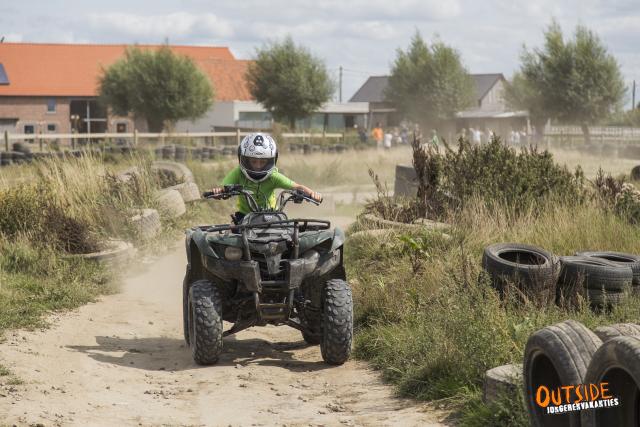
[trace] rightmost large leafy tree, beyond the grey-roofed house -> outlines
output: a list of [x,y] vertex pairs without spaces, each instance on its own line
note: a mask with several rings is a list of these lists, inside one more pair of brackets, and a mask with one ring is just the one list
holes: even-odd
[[533,96],[522,97],[518,105],[580,125],[588,142],[589,124],[619,109],[624,98],[626,89],[618,63],[598,36],[585,27],[578,26],[574,39],[565,42],[554,21],[544,38],[542,49],[525,48],[522,54],[521,86]]

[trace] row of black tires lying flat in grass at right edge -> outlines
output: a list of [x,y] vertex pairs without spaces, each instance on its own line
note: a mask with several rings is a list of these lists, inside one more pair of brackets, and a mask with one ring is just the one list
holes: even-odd
[[588,300],[594,308],[609,308],[640,294],[640,256],[621,252],[578,252],[558,257],[542,248],[518,243],[487,246],[482,267],[503,298],[547,306],[576,307]]

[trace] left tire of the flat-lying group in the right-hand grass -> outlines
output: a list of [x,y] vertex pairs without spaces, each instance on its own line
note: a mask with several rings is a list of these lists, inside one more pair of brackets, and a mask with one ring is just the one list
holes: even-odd
[[515,283],[527,298],[542,305],[555,301],[559,267],[556,256],[532,245],[497,243],[487,246],[482,255],[482,268],[500,295]]

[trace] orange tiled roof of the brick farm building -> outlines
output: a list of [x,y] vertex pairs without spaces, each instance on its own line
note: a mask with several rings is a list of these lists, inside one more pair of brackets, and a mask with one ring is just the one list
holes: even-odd
[[[0,96],[96,96],[102,67],[124,55],[127,45],[0,43],[0,63],[9,78]],[[138,45],[158,49],[160,45]],[[187,55],[209,76],[217,101],[250,100],[244,80],[248,61],[227,47],[169,46]]]

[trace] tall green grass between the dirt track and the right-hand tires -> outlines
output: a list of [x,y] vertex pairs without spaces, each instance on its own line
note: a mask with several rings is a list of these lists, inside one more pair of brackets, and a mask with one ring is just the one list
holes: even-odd
[[586,304],[567,311],[500,301],[481,269],[486,245],[530,243],[558,255],[587,249],[640,253],[640,229],[595,202],[556,204],[517,218],[506,211],[469,204],[450,218],[450,240],[424,239],[417,273],[398,238],[374,242],[365,236],[346,245],[355,355],[371,361],[400,395],[456,402],[452,409],[464,425],[528,425],[521,401],[502,402],[498,416],[479,395],[485,371],[521,363],[537,329],[568,318],[588,327],[640,320],[638,297],[600,314]]

